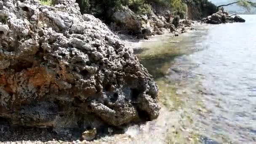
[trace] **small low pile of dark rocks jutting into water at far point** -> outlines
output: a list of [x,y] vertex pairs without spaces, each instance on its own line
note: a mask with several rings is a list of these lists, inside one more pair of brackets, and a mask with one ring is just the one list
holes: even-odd
[[245,22],[240,16],[235,16],[234,18],[229,16],[229,14],[224,11],[224,9],[213,13],[211,16],[202,19],[203,22],[208,24],[222,24],[222,23],[232,23],[232,22]]

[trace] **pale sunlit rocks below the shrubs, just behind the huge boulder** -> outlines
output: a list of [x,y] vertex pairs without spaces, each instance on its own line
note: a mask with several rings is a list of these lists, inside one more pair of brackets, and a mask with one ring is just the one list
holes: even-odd
[[157,16],[155,13],[138,15],[125,6],[115,11],[111,17],[110,27],[114,31],[137,35],[139,39],[148,39],[152,35],[163,35],[163,29],[170,29],[173,32],[180,24],[179,16],[172,18],[168,13],[163,16]]

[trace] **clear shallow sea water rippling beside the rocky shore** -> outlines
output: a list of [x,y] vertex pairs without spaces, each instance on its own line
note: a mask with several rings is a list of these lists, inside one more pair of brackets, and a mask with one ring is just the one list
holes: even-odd
[[135,53],[159,85],[163,109],[127,133],[145,143],[256,144],[256,15],[242,17],[246,23],[141,43]]

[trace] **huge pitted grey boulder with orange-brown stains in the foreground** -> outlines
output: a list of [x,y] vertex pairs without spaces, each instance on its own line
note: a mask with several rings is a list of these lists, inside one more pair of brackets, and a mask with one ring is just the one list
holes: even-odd
[[155,119],[157,85],[131,49],[75,0],[55,4],[0,2],[0,117],[97,134]]

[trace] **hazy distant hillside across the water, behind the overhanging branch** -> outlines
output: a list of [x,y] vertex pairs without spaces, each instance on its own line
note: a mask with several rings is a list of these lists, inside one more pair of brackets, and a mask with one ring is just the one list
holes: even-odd
[[[211,0],[215,5],[223,5],[235,2],[236,0]],[[256,3],[256,0],[251,0]],[[229,11],[229,13],[243,13],[243,14],[256,14],[256,8],[253,8],[250,12],[246,12],[244,8],[234,4],[224,7],[225,10]]]

